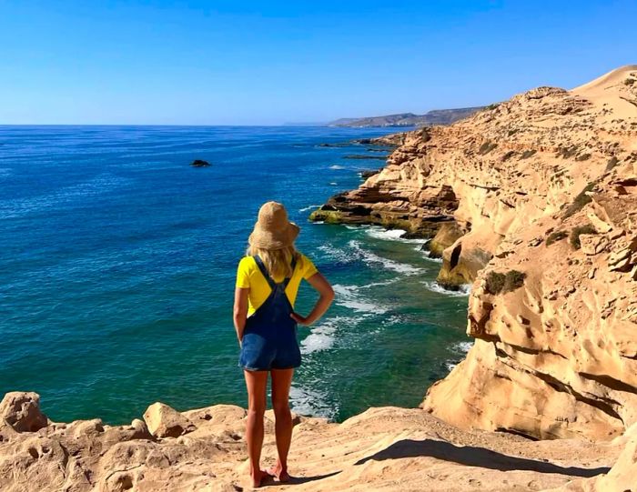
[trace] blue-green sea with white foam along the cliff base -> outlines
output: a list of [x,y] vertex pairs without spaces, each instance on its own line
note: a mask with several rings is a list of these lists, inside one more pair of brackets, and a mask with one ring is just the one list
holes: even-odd
[[[435,286],[440,264],[422,241],[307,221],[381,163],[343,158],[365,146],[319,144],[384,133],[0,126],[0,394],[36,391],[57,421],[129,422],[157,400],[245,406],[234,276],[258,207],[274,199],[337,293],[328,316],[299,329],[295,409],[342,420],[417,406],[469,346],[466,296]],[[313,298],[303,287],[298,311]]]

